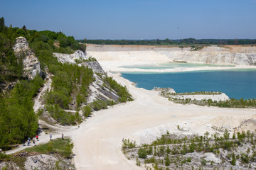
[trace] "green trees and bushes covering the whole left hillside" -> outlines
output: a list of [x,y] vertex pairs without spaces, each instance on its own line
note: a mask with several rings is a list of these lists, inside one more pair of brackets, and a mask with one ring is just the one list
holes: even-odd
[[[41,63],[43,76],[32,80],[23,77],[23,60],[14,53],[15,40],[26,38],[29,47]],[[21,143],[28,137],[34,137],[38,130],[38,119],[41,111],[33,110],[33,98],[45,83],[47,74],[52,76],[51,90],[46,94],[44,108],[52,118],[62,125],[72,125],[81,121],[77,113],[67,113],[69,104],[75,100],[77,111],[81,103],[86,102],[87,89],[95,81],[92,69],[78,67],[78,64],[60,63],[53,52],[71,54],[75,50],[85,52],[85,45],[77,42],[72,36],[50,30],[28,30],[5,26],[0,18],[0,148],[9,149],[11,145]],[[130,100],[126,88],[114,80],[106,78],[119,93],[120,102]],[[12,84],[12,86],[10,86]],[[97,101],[95,101],[97,103]],[[107,103],[113,104],[113,103]],[[87,106],[91,111],[92,106]],[[86,109],[85,109],[86,110]]]

